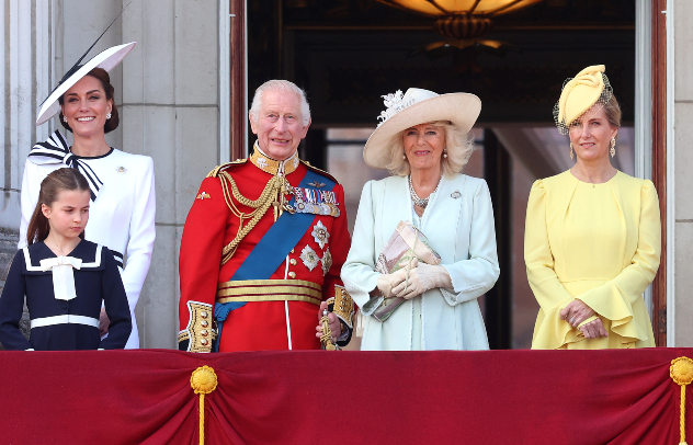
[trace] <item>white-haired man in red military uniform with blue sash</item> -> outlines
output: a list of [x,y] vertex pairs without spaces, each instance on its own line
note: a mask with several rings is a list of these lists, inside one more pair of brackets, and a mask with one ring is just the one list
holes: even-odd
[[339,277],[350,247],[344,192],[298,159],[310,125],[305,93],[285,80],[265,82],[250,125],[258,136],[252,156],[215,168],[185,220],[179,349],[320,349],[322,301],[343,345],[353,328],[353,303]]

